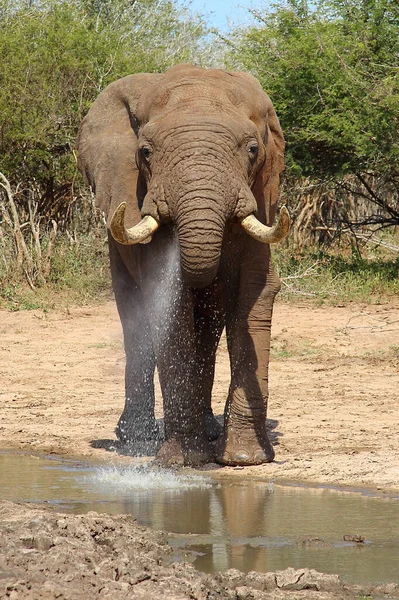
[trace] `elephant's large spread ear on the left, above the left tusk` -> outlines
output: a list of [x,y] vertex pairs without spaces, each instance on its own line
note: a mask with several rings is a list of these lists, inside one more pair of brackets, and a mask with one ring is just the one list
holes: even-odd
[[105,213],[107,225],[121,202],[126,202],[126,224],[141,219],[136,166],[137,106],[140,97],[160,77],[128,75],[111,83],[83,119],[78,139],[78,168],[89,183],[96,206]]

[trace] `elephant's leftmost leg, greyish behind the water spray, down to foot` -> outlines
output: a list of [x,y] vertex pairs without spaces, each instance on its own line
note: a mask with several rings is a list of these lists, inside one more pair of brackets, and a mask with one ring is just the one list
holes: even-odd
[[128,272],[115,242],[110,241],[115,299],[126,353],[125,407],[115,433],[135,455],[153,455],[160,445],[154,415],[155,354],[141,292]]

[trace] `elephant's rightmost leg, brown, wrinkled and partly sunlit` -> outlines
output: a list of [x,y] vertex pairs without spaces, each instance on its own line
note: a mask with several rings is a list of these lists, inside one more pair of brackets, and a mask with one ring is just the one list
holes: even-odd
[[232,377],[217,448],[222,464],[255,465],[274,458],[266,411],[273,301],[279,288],[269,248],[253,251],[242,266],[238,301],[227,318]]

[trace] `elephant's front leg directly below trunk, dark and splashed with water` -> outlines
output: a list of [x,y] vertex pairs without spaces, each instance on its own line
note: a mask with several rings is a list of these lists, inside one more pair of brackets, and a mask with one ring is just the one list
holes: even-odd
[[165,420],[165,442],[157,461],[167,466],[200,465],[210,462],[213,453],[205,430],[193,298],[181,284],[168,293],[162,311],[155,294],[146,297]]

